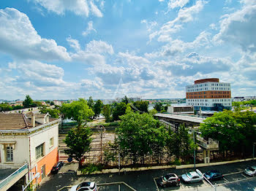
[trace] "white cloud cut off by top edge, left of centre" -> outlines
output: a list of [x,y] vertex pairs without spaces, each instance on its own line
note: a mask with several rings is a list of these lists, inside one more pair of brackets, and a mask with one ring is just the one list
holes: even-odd
[[75,15],[89,17],[89,12],[92,12],[93,15],[102,17],[102,12],[93,0],[34,0],[33,2],[58,15],[64,15],[64,12],[69,11],[74,12]]

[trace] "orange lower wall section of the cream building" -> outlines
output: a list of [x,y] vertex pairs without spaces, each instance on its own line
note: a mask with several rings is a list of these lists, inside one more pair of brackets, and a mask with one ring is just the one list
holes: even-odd
[[[50,152],[48,155],[43,157],[42,160],[39,160],[39,162],[37,162],[37,172],[40,173],[40,177],[37,183],[42,181],[42,171],[41,171],[42,166],[45,165],[45,176],[47,176],[50,173],[51,168],[53,168],[53,165],[58,161],[59,161],[59,152],[58,152],[58,147],[56,147],[55,149],[53,149],[52,152]],[[35,168],[32,169],[32,172],[35,172]]]

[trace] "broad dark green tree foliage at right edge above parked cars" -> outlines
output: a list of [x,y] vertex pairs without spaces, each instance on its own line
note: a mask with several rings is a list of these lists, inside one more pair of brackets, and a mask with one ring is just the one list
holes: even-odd
[[215,113],[200,124],[202,136],[217,139],[221,151],[251,152],[256,137],[256,114],[254,112]]

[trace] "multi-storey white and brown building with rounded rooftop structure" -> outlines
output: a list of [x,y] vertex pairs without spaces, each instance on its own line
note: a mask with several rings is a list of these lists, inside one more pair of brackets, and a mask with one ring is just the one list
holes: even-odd
[[197,79],[194,85],[186,86],[186,103],[197,111],[231,109],[230,83],[219,82],[218,78]]

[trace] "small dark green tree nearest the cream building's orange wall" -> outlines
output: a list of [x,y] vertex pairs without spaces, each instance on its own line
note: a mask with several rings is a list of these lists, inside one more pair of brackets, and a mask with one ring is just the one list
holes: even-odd
[[64,152],[69,157],[79,161],[79,168],[83,165],[83,155],[90,150],[91,135],[90,128],[84,128],[84,126],[81,127],[79,125],[78,128],[69,130],[64,140],[65,144],[67,144],[67,149]]

